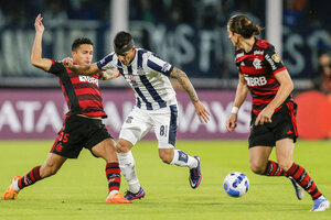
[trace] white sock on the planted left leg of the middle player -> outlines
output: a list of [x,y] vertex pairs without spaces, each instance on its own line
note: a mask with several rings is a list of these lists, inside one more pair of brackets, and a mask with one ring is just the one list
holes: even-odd
[[131,151],[128,153],[117,153],[119,168],[126,178],[129,191],[137,194],[140,189],[140,184],[136,173],[136,163]]

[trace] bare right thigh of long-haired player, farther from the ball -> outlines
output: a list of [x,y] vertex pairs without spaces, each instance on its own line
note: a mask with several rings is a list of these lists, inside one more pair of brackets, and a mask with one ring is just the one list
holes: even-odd
[[281,169],[287,172],[293,163],[295,143],[292,139],[282,139],[276,142],[276,157]]

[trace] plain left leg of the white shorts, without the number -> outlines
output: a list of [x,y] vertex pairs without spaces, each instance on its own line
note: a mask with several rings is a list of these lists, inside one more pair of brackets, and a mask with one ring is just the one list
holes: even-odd
[[119,139],[129,141],[135,145],[151,128],[152,123],[147,110],[135,107],[120,129]]

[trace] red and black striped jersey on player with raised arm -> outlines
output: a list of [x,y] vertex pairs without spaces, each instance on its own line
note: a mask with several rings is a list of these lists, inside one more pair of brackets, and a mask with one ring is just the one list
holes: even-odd
[[65,68],[61,62],[52,61],[49,73],[57,76],[68,107],[66,114],[107,118],[98,79],[103,73],[92,76],[79,76]]

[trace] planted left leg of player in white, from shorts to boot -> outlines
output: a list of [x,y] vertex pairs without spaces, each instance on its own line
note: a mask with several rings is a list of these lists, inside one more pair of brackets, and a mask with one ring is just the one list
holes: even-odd
[[121,127],[116,144],[119,167],[129,187],[125,197],[129,200],[141,199],[145,196],[137,176],[131,148],[151,129],[150,118],[146,111],[134,108]]

